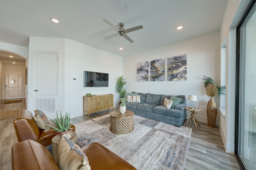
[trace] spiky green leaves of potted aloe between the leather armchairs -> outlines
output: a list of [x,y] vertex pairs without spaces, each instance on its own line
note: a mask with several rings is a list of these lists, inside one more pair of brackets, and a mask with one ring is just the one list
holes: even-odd
[[73,122],[70,124],[70,113],[66,112],[65,115],[63,115],[63,117],[62,117],[61,111],[60,111],[60,119],[58,117],[58,111],[57,111],[56,118],[54,117],[54,119],[55,119],[55,121],[53,119],[50,119],[50,120],[54,123],[54,125],[56,127],[51,126],[51,125],[46,125],[46,124],[44,124],[44,125],[52,128],[50,130],[55,130],[58,132],[68,131],[68,129],[70,129],[70,127],[72,126],[72,124],[74,123],[74,120],[75,120],[74,119]]

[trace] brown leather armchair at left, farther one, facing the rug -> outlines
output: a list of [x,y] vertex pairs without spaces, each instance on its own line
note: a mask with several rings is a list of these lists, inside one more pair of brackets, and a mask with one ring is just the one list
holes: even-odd
[[[44,130],[39,129],[34,120],[34,115],[29,110],[17,111],[13,124],[18,142],[31,139],[44,146],[48,146],[52,144],[52,138],[59,134],[58,131],[54,130],[44,133]],[[55,126],[52,121],[49,121],[49,125]],[[70,130],[75,131],[76,127],[72,125]]]

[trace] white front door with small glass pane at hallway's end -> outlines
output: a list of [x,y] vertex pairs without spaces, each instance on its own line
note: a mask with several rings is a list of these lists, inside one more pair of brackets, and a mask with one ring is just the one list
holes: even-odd
[[22,72],[5,70],[4,79],[4,99],[22,98]]

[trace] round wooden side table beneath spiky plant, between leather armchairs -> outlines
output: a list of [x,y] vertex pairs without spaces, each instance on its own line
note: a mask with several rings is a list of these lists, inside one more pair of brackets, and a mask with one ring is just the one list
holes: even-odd
[[[70,137],[70,141],[74,142],[75,144],[77,144],[77,134],[76,132],[70,132],[71,137]],[[58,151],[58,145],[60,142],[60,134],[56,135],[55,137],[52,138],[52,157],[55,160],[56,164],[58,164],[57,161],[57,151]]]

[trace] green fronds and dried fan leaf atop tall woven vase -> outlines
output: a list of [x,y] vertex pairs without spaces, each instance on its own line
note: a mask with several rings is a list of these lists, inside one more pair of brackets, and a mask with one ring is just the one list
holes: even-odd
[[[206,88],[206,93],[208,91],[208,93],[211,93],[211,95],[214,94],[214,96],[217,96],[218,94],[226,94],[226,86],[216,86],[216,83],[214,82],[214,80],[212,80],[212,78],[207,77],[207,76],[203,76],[203,80],[205,81],[204,87]],[[214,84],[214,85],[210,86],[210,84]],[[209,86],[209,87],[207,87],[207,86]],[[216,88],[214,88],[214,86]],[[218,90],[218,93],[215,95],[216,89]],[[213,90],[213,92],[210,92],[210,90]],[[208,93],[207,93],[207,95],[208,95]],[[212,97],[214,97],[214,96],[212,96]]]

